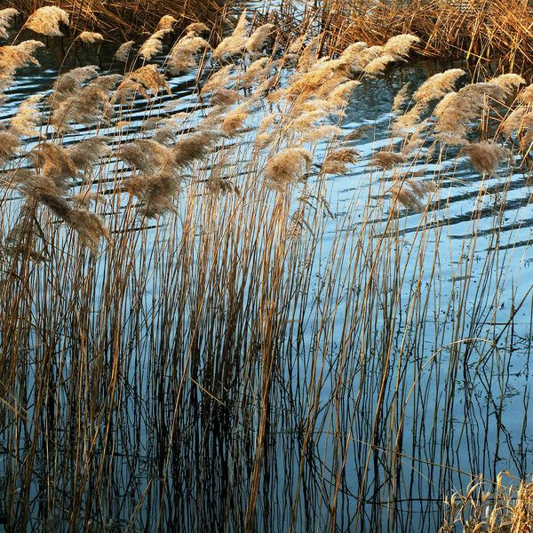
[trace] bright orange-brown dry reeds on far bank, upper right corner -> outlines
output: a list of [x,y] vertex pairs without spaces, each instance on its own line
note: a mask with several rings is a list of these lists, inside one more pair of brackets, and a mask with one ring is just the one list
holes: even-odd
[[529,0],[328,0],[322,4],[330,46],[354,41],[384,44],[390,36],[414,34],[426,57],[460,58],[501,71],[533,71],[533,11]]

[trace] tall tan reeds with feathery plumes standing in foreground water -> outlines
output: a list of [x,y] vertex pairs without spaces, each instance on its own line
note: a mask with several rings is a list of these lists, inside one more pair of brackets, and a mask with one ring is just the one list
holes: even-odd
[[[327,179],[364,134],[341,127],[346,106],[419,40],[329,59],[322,35],[281,45],[250,21],[214,50],[193,24],[161,62],[163,19],[117,50],[122,72],[61,72],[3,122],[10,531],[436,529],[452,487],[496,481],[498,454],[527,473],[501,421],[531,290],[500,311],[513,246],[494,231],[476,249],[480,209],[442,291],[440,212],[446,162],[466,157],[502,224],[514,172],[530,174],[531,85],[454,68],[405,87],[368,195],[338,215]],[[52,38],[67,22],[54,8],[24,26]],[[43,47],[0,47],[7,101]],[[187,71],[197,99],[177,112],[169,78]]]

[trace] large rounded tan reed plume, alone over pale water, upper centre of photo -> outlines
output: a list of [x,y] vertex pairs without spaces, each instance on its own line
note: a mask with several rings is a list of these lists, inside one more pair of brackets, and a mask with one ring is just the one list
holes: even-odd
[[265,170],[267,187],[286,190],[290,184],[305,177],[312,161],[313,155],[305,148],[284,148],[268,160]]

